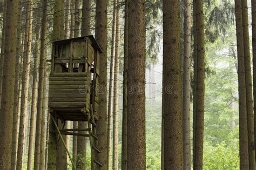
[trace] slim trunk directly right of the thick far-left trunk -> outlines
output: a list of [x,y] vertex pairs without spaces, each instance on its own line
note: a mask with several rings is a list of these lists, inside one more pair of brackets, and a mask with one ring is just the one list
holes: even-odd
[[11,142],[11,169],[16,169],[17,161],[17,142],[18,142],[18,101],[19,101],[19,62],[21,54],[21,25],[22,25],[22,0],[18,3],[17,16],[17,44],[16,44],[16,63],[15,63],[15,84],[14,84],[14,117],[12,119],[12,142]]

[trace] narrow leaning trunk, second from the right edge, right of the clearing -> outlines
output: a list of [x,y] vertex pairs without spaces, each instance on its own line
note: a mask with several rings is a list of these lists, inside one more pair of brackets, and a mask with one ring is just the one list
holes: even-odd
[[242,28],[244,35],[244,58],[245,58],[245,85],[246,85],[246,109],[247,109],[247,131],[248,131],[248,153],[249,168],[255,169],[255,150],[254,150],[254,115],[252,97],[252,72],[250,57],[250,38],[248,28],[248,6],[247,0],[242,1]]

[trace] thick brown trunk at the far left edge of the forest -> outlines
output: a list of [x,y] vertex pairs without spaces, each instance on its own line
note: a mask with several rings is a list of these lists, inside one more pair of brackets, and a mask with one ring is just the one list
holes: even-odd
[[11,168],[12,117],[14,112],[15,58],[17,41],[18,0],[6,1],[6,34],[0,112],[0,169]]

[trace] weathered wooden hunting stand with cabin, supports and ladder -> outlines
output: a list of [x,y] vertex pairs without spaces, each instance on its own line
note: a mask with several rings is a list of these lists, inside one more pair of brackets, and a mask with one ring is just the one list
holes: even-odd
[[[91,169],[100,169],[97,120],[99,107],[99,53],[102,53],[93,36],[58,40],[52,44],[52,69],[49,85],[49,110],[57,133],[89,137]],[[57,120],[87,121],[84,130],[59,130]],[[79,133],[87,131],[88,133]],[[60,135],[62,134],[62,135]],[[65,146],[66,147],[66,146]],[[66,148],[66,151],[71,155]],[[71,159],[72,162],[72,159]],[[72,165],[74,166],[73,162]]]

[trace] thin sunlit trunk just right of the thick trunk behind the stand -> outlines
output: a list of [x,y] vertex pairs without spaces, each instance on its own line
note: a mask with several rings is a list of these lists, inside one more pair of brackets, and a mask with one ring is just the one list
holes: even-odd
[[114,49],[116,44],[116,0],[113,1],[112,40],[110,55],[109,103],[107,106],[107,169],[110,169],[112,111],[113,111],[113,84],[114,84]]

